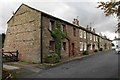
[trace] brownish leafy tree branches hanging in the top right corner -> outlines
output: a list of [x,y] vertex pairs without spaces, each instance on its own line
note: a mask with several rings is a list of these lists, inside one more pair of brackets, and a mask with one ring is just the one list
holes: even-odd
[[[120,1],[111,0],[107,2],[98,2],[98,7],[101,8],[106,16],[115,15],[118,18],[118,30],[120,29]],[[118,31],[117,30],[117,31]]]

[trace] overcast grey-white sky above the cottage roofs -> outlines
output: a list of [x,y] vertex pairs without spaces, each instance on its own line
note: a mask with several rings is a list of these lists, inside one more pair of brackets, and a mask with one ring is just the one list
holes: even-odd
[[90,25],[96,32],[114,39],[117,36],[114,33],[117,28],[117,18],[106,17],[102,10],[96,8],[99,1],[108,0],[2,0],[0,2],[0,15],[2,15],[0,16],[0,33],[6,32],[7,21],[12,16],[12,12],[25,3],[68,22],[72,22],[73,18],[78,16],[81,26]]

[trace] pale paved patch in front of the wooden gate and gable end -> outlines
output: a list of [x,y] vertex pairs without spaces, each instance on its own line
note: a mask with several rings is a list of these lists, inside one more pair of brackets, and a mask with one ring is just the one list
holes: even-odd
[[14,78],[22,78],[45,70],[44,66],[25,62],[6,62],[3,63],[3,69],[9,70]]

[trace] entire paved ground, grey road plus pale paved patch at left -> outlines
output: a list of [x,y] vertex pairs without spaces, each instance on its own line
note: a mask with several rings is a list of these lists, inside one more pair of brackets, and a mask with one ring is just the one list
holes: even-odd
[[111,50],[55,65],[9,62],[4,63],[3,67],[11,70],[16,78],[116,78],[118,55]]

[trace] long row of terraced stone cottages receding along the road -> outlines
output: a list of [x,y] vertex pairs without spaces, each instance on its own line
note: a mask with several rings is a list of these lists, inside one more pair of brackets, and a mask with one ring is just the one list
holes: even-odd
[[69,23],[22,4],[7,22],[4,51],[18,50],[20,61],[44,62],[49,52],[55,51],[55,41],[48,29],[54,30],[57,20],[67,33],[62,41],[62,58],[75,57],[86,50],[92,54],[95,50],[111,49],[111,40],[96,34],[89,26],[81,27],[77,19]]

